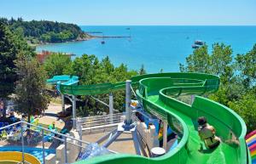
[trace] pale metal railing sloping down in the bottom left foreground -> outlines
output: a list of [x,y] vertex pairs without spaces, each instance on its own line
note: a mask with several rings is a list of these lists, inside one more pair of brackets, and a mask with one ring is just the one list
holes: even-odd
[[[41,161],[43,164],[45,164],[45,155],[46,155],[46,151],[48,149],[46,149],[47,146],[45,146],[45,144],[47,142],[49,142],[49,144],[54,144],[55,149],[57,146],[64,144],[64,155],[65,155],[65,160],[64,163],[67,164],[68,161],[70,161],[71,159],[68,159],[68,155],[67,155],[67,144],[71,145],[73,144],[76,148],[78,149],[78,156],[76,156],[76,159],[79,157],[79,154],[81,153],[82,150],[85,149],[86,145],[90,144],[89,142],[83,141],[81,139],[75,139],[72,136],[63,134],[63,133],[58,133],[55,132],[54,130],[49,130],[47,128],[44,127],[40,127],[37,125],[34,125],[32,123],[28,123],[28,122],[15,122],[13,124],[10,124],[6,127],[0,127],[0,131],[3,133],[3,130],[7,130],[13,127],[19,127],[19,130],[16,131],[16,133],[19,134],[20,139],[17,139],[18,145],[21,146],[21,152],[22,152],[22,163],[29,163],[28,161],[26,161],[26,156],[25,156],[25,147],[26,147],[26,143],[28,143],[28,141],[25,141],[25,136],[28,134],[28,132],[30,133],[30,135],[34,135],[35,133],[37,133],[37,137],[40,138],[38,139],[38,144],[42,144],[42,151],[43,151],[43,161]],[[51,141],[45,140],[46,137],[50,137]],[[6,138],[6,140],[9,139]],[[58,142],[57,142],[58,141]],[[51,142],[51,143],[50,143]],[[8,143],[7,145],[10,145],[11,143]],[[15,144],[17,144],[17,142],[15,142]],[[56,145],[55,145],[56,144]],[[40,147],[40,146],[39,146]],[[38,148],[38,145],[37,145]],[[112,150],[109,150],[112,153],[116,153]]]

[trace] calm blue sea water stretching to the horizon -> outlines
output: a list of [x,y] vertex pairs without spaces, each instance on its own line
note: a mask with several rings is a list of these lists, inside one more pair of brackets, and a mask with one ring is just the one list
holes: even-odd
[[[102,31],[104,36],[130,36],[129,38],[91,39],[82,42],[65,42],[38,46],[37,51],[95,54],[99,59],[107,55],[114,65],[124,63],[131,70],[142,65],[148,73],[179,71],[193,53],[195,40],[212,43],[224,42],[233,49],[233,55],[245,54],[256,43],[256,26],[81,26],[84,31]],[[127,28],[130,28],[127,29]],[[102,34],[95,34],[100,35]]]

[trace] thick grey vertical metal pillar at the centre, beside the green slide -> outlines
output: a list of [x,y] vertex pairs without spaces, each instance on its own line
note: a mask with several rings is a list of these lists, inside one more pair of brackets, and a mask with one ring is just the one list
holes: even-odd
[[131,120],[131,80],[126,80],[125,82],[125,124],[130,125],[132,120]]

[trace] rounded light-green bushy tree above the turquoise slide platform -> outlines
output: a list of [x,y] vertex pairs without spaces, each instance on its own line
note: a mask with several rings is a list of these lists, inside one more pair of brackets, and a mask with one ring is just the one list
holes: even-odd
[[67,54],[53,53],[44,61],[44,70],[48,77],[55,75],[68,75],[71,71],[72,61]]

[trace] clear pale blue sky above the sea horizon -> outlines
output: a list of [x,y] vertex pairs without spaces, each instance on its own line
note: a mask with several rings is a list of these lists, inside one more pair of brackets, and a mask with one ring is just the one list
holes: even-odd
[[256,0],[0,0],[0,16],[79,25],[256,25]]

